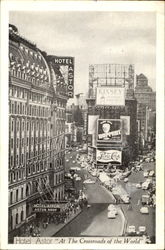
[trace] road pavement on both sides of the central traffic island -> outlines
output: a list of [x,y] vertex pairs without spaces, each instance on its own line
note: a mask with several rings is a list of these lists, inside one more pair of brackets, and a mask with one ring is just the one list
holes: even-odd
[[[70,167],[80,167],[75,161],[77,152],[72,151],[66,155],[68,159],[66,169]],[[73,163],[75,162],[75,163]],[[143,163],[143,171],[155,170],[155,163]],[[78,171],[82,181],[85,178],[94,180],[93,184],[83,184],[83,191],[87,196],[88,203],[91,204],[89,209],[84,209],[82,213],[72,222],[66,225],[56,236],[120,236],[125,234],[125,229],[128,226],[135,225],[136,230],[139,226],[145,226],[147,234],[150,237],[155,235],[155,209],[149,207],[149,214],[141,214],[141,197],[147,194],[147,190],[138,189],[137,183],[144,182],[143,171],[133,172],[128,177],[128,182],[123,180],[118,181],[118,186],[122,186],[131,198],[131,209],[128,204],[119,204],[117,206],[118,215],[115,219],[107,218],[107,207],[110,203],[115,203],[114,197],[110,191],[100,185],[97,177],[91,176],[86,168],[81,168]]]

